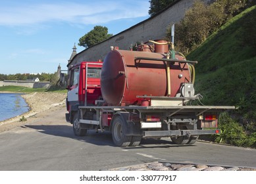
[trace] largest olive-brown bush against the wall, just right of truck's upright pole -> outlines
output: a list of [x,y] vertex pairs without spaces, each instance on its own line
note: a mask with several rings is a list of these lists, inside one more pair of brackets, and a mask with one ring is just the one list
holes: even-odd
[[[217,30],[222,20],[222,14],[218,9],[196,0],[175,26],[176,48],[187,54]],[[167,37],[170,38],[170,30]]]

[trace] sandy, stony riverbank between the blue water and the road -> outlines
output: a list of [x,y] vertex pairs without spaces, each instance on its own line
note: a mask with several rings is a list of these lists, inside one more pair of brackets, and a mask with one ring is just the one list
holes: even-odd
[[[9,92],[6,92],[9,93]],[[66,103],[66,93],[53,93],[53,92],[35,92],[22,95],[26,103],[30,107],[30,110],[20,116],[10,118],[0,122],[0,132],[13,129],[17,126],[26,124],[31,117],[36,116],[39,112],[49,110],[54,106],[61,106]],[[27,121],[20,121],[20,118],[27,119]]]

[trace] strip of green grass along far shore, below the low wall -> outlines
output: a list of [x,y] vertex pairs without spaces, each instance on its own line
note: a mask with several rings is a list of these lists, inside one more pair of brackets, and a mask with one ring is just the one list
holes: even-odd
[[4,92],[12,92],[12,93],[34,93],[34,92],[57,92],[57,93],[66,93],[66,89],[61,88],[30,88],[30,87],[23,87],[23,86],[14,86],[14,85],[7,85],[0,87],[0,91]]

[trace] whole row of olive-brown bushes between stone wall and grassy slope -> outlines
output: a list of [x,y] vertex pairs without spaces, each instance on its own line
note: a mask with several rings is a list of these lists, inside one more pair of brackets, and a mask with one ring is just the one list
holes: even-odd
[[[195,0],[175,26],[176,49],[188,54],[213,34],[229,18],[241,12],[249,0],[218,0],[211,5]],[[170,39],[170,29],[167,30]]]

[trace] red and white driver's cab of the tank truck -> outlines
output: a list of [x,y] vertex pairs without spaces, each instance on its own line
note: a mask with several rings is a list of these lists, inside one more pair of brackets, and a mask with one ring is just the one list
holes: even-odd
[[[94,105],[95,101],[101,99],[101,67],[102,62],[88,61],[80,62],[69,69],[68,95],[66,98],[66,109],[79,105]],[[69,113],[66,120],[70,122]]]

